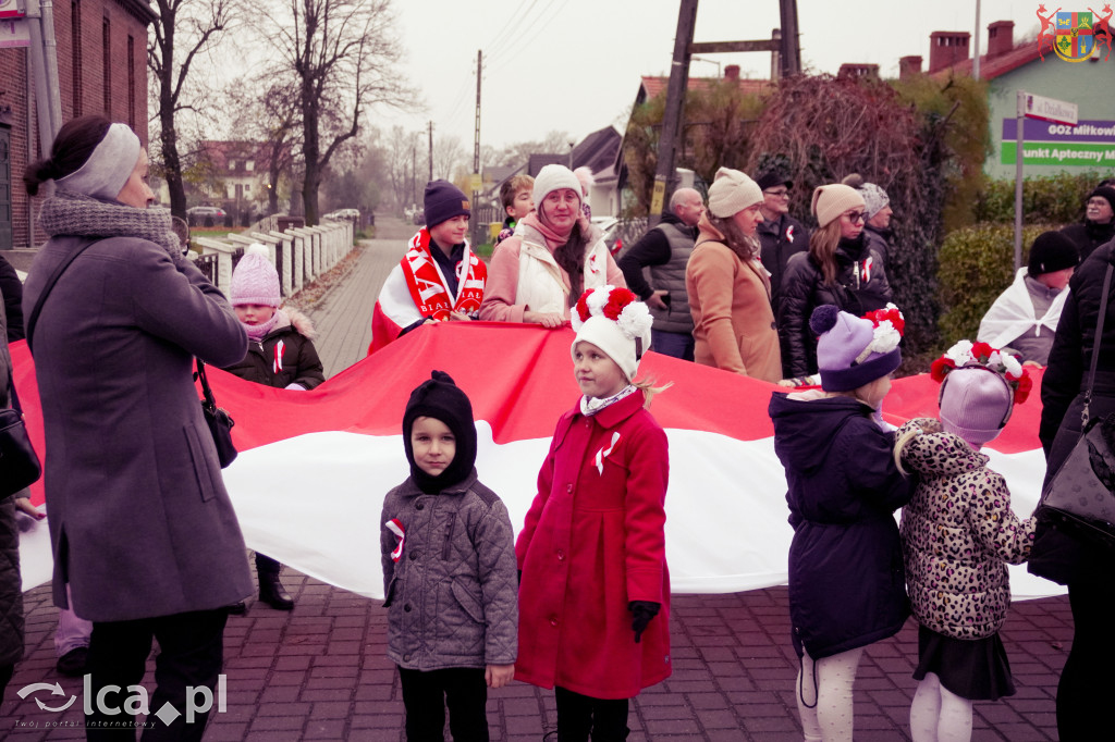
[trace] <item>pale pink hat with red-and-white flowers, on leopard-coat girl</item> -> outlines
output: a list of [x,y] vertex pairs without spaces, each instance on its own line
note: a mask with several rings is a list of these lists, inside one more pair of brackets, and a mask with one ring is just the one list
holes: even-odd
[[941,383],[941,426],[975,448],[999,435],[1014,404],[1025,402],[1032,385],[1018,359],[970,340],[933,361],[930,377]]

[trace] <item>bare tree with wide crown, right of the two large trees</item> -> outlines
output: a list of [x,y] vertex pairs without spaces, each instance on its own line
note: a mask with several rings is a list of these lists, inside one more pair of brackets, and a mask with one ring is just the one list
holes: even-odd
[[357,136],[375,104],[401,105],[407,90],[390,0],[285,0],[264,7],[261,29],[297,82],[306,170],[307,224],[317,224],[318,189],[330,159]]

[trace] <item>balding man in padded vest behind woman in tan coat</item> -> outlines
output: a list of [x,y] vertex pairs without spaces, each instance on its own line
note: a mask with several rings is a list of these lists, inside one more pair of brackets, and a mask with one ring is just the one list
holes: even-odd
[[[694,360],[694,319],[686,293],[686,265],[697,238],[705,201],[692,188],[678,188],[670,212],[648,230],[619,261],[628,287],[647,302],[655,324],[651,348],[663,355]],[[650,281],[643,275],[650,269]]]

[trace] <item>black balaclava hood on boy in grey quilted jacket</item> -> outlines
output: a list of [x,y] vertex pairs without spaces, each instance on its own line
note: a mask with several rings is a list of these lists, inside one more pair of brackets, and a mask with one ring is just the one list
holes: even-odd
[[[415,463],[410,430],[418,418],[435,418],[445,423],[457,439],[457,450],[449,466],[436,477],[423,471]],[[464,480],[476,465],[476,423],[468,396],[444,371],[430,371],[429,380],[418,384],[407,401],[403,413],[403,446],[410,462],[410,476],[427,494],[440,492]]]

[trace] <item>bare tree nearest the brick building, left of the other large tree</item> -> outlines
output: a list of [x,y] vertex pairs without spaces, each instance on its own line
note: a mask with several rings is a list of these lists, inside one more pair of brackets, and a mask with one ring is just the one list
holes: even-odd
[[234,0],[155,0],[155,4],[158,19],[152,25],[147,66],[158,88],[162,169],[171,192],[171,213],[185,218],[186,192],[175,116],[194,109],[184,96],[186,80],[197,56],[210,50],[229,27]]

